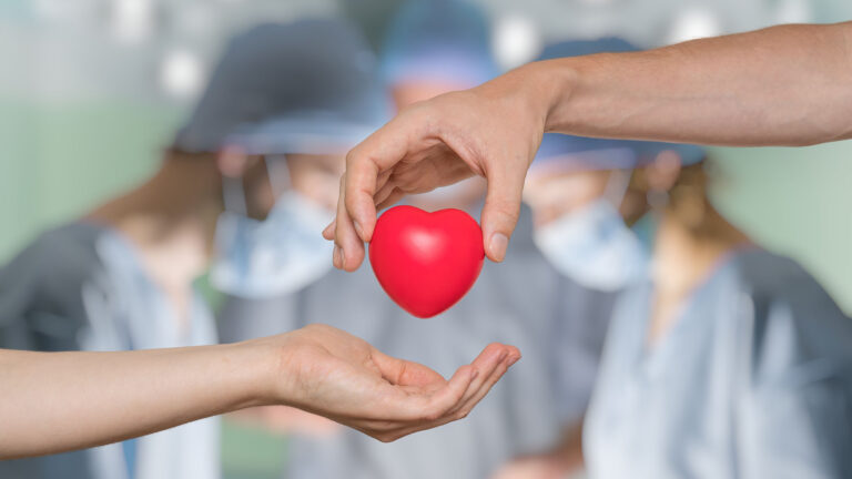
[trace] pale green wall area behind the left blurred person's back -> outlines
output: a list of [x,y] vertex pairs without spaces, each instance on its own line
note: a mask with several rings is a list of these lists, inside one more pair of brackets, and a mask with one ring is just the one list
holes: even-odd
[[142,102],[0,100],[0,261],[153,172],[180,119]]

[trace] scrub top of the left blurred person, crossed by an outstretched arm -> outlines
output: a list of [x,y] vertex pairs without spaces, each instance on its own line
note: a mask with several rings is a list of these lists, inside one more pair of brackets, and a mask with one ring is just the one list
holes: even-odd
[[[180,326],[131,244],[91,223],[42,234],[0,268],[3,348],[122,350],[214,344],[215,325],[197,294],[190,312],[189,322]],[[0,461],[0,477],[215,479],[219,435],[219,420],[203,419],[131,441]]]

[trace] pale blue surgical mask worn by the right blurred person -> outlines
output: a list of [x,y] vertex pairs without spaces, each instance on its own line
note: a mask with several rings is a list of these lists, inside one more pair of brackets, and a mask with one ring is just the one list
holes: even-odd
[[545,257],[586,287],[617,291],[648,274],[649,249],[616,206],[629,177],[628,172],[612,172],[602,197],[536,230],[535,242]]

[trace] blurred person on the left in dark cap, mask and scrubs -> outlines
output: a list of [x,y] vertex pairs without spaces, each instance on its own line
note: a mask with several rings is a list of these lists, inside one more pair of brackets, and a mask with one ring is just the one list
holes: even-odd
[[[325,176],[337,184],[341,152],[386,114],[365,49],[357,32],[333,21],[262,26],[236,38],[153,177],[42,234],[0,271],[2,347],[213,344],[211,313],[192,285],[212,256],[214,282],[246,294],[321,275],[329,249],[315,240],[334,200],[312,191]],[[292,156],[287,169],[270,153],[291,151],[292,141],[312,156]],[[332,173],[308,174],[306,162]],[[296,179],[303,191],[278,195]],[[271,244],[296,251],[282,256]],[[219,432],[216,418],[204,419],[123,444],[0,462],[0,476],[216,478]]]

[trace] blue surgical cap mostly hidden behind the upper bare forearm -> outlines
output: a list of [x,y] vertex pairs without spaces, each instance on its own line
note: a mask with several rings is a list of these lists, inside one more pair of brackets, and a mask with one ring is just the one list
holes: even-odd
[[[638,50],[620,38],[566,41],[546,47],[538,60]],[[536,154],[534,167],[549,166],[559,170],[631,169],[648,164],[663,151],[677,153],[683,164],[698,163],[706,156],[702,147],[690,144],[606,140],[545,133]]]

